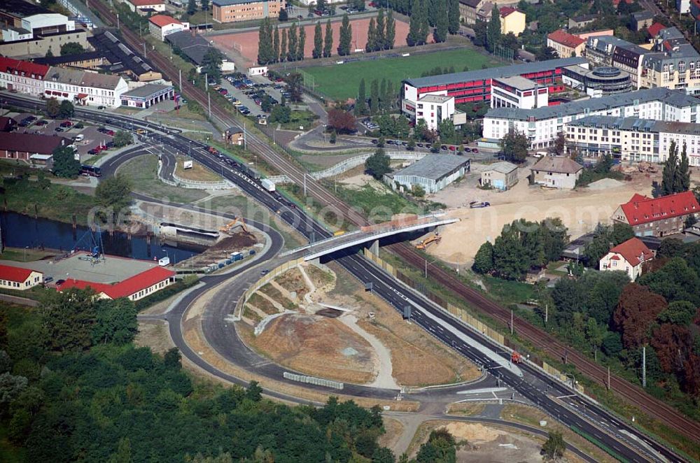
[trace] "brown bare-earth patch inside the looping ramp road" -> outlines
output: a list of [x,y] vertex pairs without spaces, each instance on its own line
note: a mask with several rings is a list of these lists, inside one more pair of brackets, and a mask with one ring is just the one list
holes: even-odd
[[274,362],[311,376],[351,383],[374,378],[374,350],[335,319],[281,315],[253,343]]

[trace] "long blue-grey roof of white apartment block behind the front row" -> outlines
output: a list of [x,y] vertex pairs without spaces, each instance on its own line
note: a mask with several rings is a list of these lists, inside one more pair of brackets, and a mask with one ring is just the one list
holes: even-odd
[[486,117],[496,117],[508,120],[545,120],[552,117],[577,115],[593,111],[605,111],[622,106],[645,103],[647,101],[663,101],[675,108],[687,108],[698,106],[700,101],[680,90],[669,90],[664,87],[656,87],[645,90],[636,90],[607,97],[592,98],[571,101],[559,106],[547,106],[535,109],[518,108],[493,108],[486,113]]

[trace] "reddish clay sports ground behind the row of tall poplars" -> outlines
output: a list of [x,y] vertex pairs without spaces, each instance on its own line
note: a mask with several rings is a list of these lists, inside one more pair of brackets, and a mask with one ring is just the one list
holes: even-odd
[[[325,34],[325,21],[321,20],[323,34]],[[367,45],[367,29],[370,26],[370,18],[358,20],[350,20],[352,25],[352,48],[365,48]],[[333,30],[333,50],[332,55],[337,55],[337,47],[340,42],[340,21],[330,23]],[[314,28],[316,24],[305,26],[306,42],[304,43],[304,56],[311,57],[311,52],[314,50]],[[280,28],[286,31],[285,29]],[[405,38],[408,34],[408,23],[396,20],[396,43],[405,43]],[[258,60],[258,31],[238,32],[235,34],[225,34],[221,36],[210,37],[216,45],[228,52],[235,52],[242,55],[250,64]],[[428,38],[432,41],[432,36]]]

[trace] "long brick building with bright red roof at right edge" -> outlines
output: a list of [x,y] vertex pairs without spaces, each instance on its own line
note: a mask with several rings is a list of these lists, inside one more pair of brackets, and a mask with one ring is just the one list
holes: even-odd
[[634,194],[612,214],[612,220],[631,225],[637,236],[667,236],[680,233],[689,215],[700,213],[692,192],[668,194],[659,198]]

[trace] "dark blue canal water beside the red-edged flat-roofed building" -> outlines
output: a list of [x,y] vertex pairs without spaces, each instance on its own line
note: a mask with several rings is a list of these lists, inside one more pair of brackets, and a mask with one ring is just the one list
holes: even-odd
[[[70,224],[34,219],[13,212],[0,213],[0,225],[4,245],[12,248],[43,246],[62,251],[91,250],[97,241],[97,233],[92,233],[86,227],[73,230]],[[115,232],[110,236],[106,231],[102,232],[102,247],[106,255],[149,260],[167,256],[171,263],[181,262],[205,249],[203,246],[164,242],[157,236],[151,238],[149,245],[145,236],[132,236],[130,239],[125,233]]]

